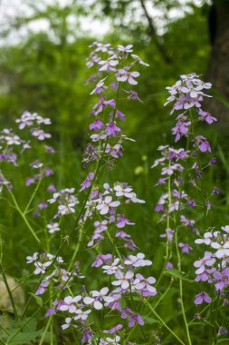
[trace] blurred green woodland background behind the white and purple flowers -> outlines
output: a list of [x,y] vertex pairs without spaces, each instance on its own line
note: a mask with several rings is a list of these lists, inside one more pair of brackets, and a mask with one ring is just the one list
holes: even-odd
[[[135,54],[150,64],[141,68],[136,88],[143,103],[121,103],[121,110],[127,115],[124,132],[137,142],[126,144],[124,157],[109,179],[129,182],[147,201],[146,206],[131,206],[126,214],[136,222],[133,238],[153,260],[156,277],[163,265],[164,244],[158,246],[161,229],[154,213],[161,192],[154,187],[158,173],[151,171],[150,165],[158,157],[157,146],[174,141],[170,134],[174,117],[169,116],[169,107],[163,106],[167,98],[165,87],[174,84],[180,74],[192,72],[203,74],[205,81],[212,82],[215,99],[205,104],[205,109],[212,111],[218,123],[203,126],[203,134],[211,139],[218,163],[205,179],[205,188],[217,185],[223,191],[215,203],[212,223],[228,223],[228,0],[2,0],[0,16],[1,127],[14,127],[15,118],[24,110],[52,119],[52,145],[58,151],[53,158],[52,182],[57,189],[78,187],[85,176],[81,156],[88,139],[89,113],[95,103],[90,96],[91,85],[86,84],[92,73],[85,65],[90,54],[88,45],[94,40],[134,44]],[[20,192],[24,188],[24,168],[18,168],[18,172],[15,193],[26,204],[31,190]],[[36,243],[20,217],[13,216],[10,206],[5,206],[1,223],[3,241],[7,243],[5,269],[21,278],[24,258],[37,251]],[[70,247],[74,245],[72,242]],[[175,292],[171,290],[167,301]],[[169,321],[177,304],[167,301],[160,312]],[[193,312],[195,308],[191,316]],[[178,320],[174,322],[182,334]],[[172,344],[169,340],[167,343]]]

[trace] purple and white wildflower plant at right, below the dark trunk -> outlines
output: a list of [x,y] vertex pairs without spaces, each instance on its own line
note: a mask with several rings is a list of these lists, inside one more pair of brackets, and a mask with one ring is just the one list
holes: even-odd
[[[222,231],[215,230],[211,223],[211,212],[214,198],[220,191],[205,189],[205,174],[216,159],[212,153],[211,143],[202,135],[203,123],[212,125],[217,120],[204,108],[205,97],[210,83],[205,83],[199,75],[181,75],[171,87],[167,87],[169,97],[167,104],[173,104],[171,114],[176,113],[177,123],[172,128],[175,143],[185,143],[185,147],[160,146],[158,158],[152,168],[160,167],[161,177],[157,186],[164,186],[165,192],[157,202],[155,211],[160,214],[159,222],[164,225],[165,232],[161,237],[166,239],[166,255],[164,267],[157,279],[159,283],[165,275],[178,278],[179,303],[186,328],[186,340],[192,343],[190,329],[197,320],[204,320],[209,327],[209,343],[216,344],[218,337],[226,330],[225,319],[218,310],[225,304],[225,289],[228,284],[228,226]],[[196,217],[197,216],[197,217]],[[197,218],[198,222],[195,219]],[[203,222],[204,219],[204,228]],[[192,251],[197,245],[204,245],[205,251]],[[203,247],[204,247],[203,246]],[[201,258],[196,260],[196,254]],[[189,276],[183,271],[186,255],[194,258],[196,271],[195,281],[205,282],[194,298],[197,311],[194,320],[187,320],[187,309],[190,308],[184,295],[183,285],[194,283],[192,273]],[[184,268],[187,270],[187,267]],[[206,283],[209,284],[207,287]],[[202,289],[205,291],[202,291]],[[186,303],[185,303],[186,302]],[[190,301],[189,301],[190,303]],[[200,305],[206,306],[200,309]]]

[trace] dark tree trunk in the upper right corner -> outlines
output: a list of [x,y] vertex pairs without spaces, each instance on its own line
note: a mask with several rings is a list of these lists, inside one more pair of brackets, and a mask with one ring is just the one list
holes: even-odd
[[[215,0],[209,13],[209,32],[212,44],[206,80],[213,84],[229,104],[229,0]],[[210,110],[220,123],[229,123],[229,105],[214,97]]]

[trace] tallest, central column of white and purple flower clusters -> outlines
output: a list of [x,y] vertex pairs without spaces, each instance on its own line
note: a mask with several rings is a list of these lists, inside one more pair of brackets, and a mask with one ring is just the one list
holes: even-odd
[[[106,312],[115,312],[122,322],[127,319],[129,328],[134,325],[142,327],[145,321],[139,313],[140,308],[137,308],[136,301],[141,304],[145,299],[157,295],[155,278],[145,277],[140,271],[145,266],[151,266],[152,261],[146,260],[141,252],[134,253],[138,246],[131,235],[124,231],[127,227],[133,226],[134,222],[126,217],[123,207],[132,202],[144,201],[138,199],[136,192],[127,182],[115,182],[112,185],[100,182],[100,171],[106,167],[112,169],[115,160],[123,155],[124,142],[132,141],[122,133],[121,123],[126,120],[126,115],[120,110],[119,94],[122,93],[127,100],[141,102],[132,86],[138,84],[139,72],[136,71],[136,66],[148,64],[138,55],[131,54],[131,44],[113,48],[110,44],[96,42],[91,48],[93,51],[87,65],[90,68],[97,66],[97,73],[89,78],[88,83],[95,83],[91,95],[99,97],[91,109],[90,143],[87,145],[82,163],[85,168],[89,164],[94,165],[94,168],[81,182],[79,192],[76,192],[75,188],[65,188],[56,192],[51,185],[49,192],[52,192],[52,197],[41,204],[41,208],[46,208],[48,204],[50,207],[57,204],[57,212],[46,224],[47,232],[54,238],[55,232],[60,231],[62,216],[69,215],[71,218],[72,215],[74,228],[66,241],[70,241],[71,234],[77,229],[79,243],[68,270],[60,268],[60,265],[64,264],[61,257],[47,252],[35,252],[27,261],[33,262],[34,274],[43,275],[36,294],[45,293],[51,286],[62,292],[60,296],[63,296],[59,297],[58,301],[52,301],[52,308],[49,308],[46,316],[62,311],[65,314],[62,330],[77,328],[81,332],[82,343],[91,344],[96,341],[98,344],[106,345],[125,341],[124,333],[119,333],[119,330],[125,327],[122,323],[106,330]],[[125,88],[122,88],[124,85]],[[24,113],[18,121],[20,128],[33,126],[34,122],[37,124],[39,117],[28,113]],[[41,123],[48,124],[48,121],[44,119]],[[42,133],[38,132],[38,128],[31,129],[32,135],[42,140]],[[31,166],[33,169],[42,169],[43,164],[35,161]],[[78,204],[79,207],[76,207]],[[59,219],[60,222],[57,222]],[[103,253],[103,240],[109,243],[110,252]],[[85,281],[85,285],[76,285],[72,291],[70,282],[73,278],[82,278],[78,269],[80,262],[77,260],[81,258],[81,252],[86,250],[96,253],[93,253],[95,259],[91,262],[91,267],[97,268],[97,273],[100,271],[100,274],[104,275],[104,281],[108,281],[107,286],[98,291],[90,291]],[[129,251],[133,254],[129,254]],[[66,288],[70,291],[69,295],[66,295]],[[101,311],[101,317],[104,318],[104,326],[102,321],[99,330],[91,323],[95,311]]]

